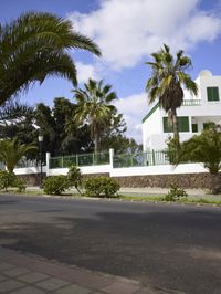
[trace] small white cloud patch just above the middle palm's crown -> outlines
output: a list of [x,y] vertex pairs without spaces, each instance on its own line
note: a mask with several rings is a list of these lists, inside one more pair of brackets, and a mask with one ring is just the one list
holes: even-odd
[[78,83],[86,83],[88,78],[98,80],[98,74],[96,73],[96,69],[92,64],[85,64],[82,62],[76,62],[77,70],[77,81]]

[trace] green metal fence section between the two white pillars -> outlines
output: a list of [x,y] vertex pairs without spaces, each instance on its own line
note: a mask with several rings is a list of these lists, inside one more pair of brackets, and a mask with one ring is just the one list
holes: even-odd
[[49,168],[67,168],[72,165],[83,166],[98,166],[109,164],[109,153],[99,154],[76,154],[70,156],[51,157]]

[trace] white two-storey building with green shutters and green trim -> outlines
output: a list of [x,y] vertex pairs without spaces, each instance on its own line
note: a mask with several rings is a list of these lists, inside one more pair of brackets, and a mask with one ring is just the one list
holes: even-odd
[[[198,85],[198,96],[191,96],[185,91],[183,104],[177,109],[181,141],[201,133],[209,122],[221,122],[221,76],[202,71],[194,82]],[[144,151],[165,149],[168,137],[172,135],[168,115],[159,108],[158,103],[155,104],[143,119]]]

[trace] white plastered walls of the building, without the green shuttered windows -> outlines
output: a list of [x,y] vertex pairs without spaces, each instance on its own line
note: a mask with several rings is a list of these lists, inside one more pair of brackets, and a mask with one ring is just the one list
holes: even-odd
[[[198,96],[193,97],[185,91],[185,99],[200,99],[201,105],[196,106],[181,106],[177,109],[178,116],[189,116],[189,133],[180,133],[181,141],[189,139],[194,133],[191,133],[191,123],[196,120],[198,124],[198,132],[202,132],[203,123],[207,122],[221,122],[221,76],[214,76],[209,71],[200,72],[196,80],[198,84]],[[218,86],[220,101],[208,102],[207,87]],[[165,149],[167,147],[166,140],[168,135],[172,133],[164,133],[162,117],[168,116],[165,111],[157,109],[150,117],[143,124],[143,148],[144,151],[149,149]]]

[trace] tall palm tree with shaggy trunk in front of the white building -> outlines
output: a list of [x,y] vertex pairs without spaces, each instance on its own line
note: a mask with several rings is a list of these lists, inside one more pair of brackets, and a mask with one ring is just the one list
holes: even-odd
[[198,94],[197,84],[186,73],[191,66],[191,60],[183,55],[182,50],[178,51],[173,57],[170,48],[166,44],[151,56],[154,62],[146,62],[152,71],[151,77],[146,84],[149,103],[159,99],[159,106],[168,113],[168,120],[173,128],[173,137],[179,144],[177,108],[182,105],[182,88],[187,88],[193,95]]

